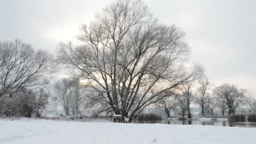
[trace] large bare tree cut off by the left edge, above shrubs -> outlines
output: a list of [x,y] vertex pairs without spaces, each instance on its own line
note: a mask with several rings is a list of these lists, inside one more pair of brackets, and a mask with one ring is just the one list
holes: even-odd
[[48,83],[46,78],[54,72],[52,60],[51,54],[20,40],[0,41],[0,96]]

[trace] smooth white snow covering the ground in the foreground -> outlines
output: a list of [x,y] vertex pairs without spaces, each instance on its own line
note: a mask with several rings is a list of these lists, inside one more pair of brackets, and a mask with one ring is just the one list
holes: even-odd
[[0,120],[0,144],[256,144],[256,128]]

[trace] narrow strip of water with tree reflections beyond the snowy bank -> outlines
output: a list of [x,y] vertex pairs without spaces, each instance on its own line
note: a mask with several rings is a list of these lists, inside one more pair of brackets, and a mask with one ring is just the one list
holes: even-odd
[[133,123],[162,123],[170,125],[218,125],[218,126],[237,126],[244,128],[256,128],[256,123],[248,122],[229,122],[228,120],[161,120],[161,121],[139,121],[133,120]]

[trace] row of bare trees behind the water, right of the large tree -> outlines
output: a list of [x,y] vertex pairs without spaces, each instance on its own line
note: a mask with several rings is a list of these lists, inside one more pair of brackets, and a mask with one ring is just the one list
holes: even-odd
[[235,114],[237,109],[245,110],[248,113],[256,112],[256,100],[250,97],[245,89],[239,89],[236,85],[224,83],[213,87],[208,78],[201,78],[195,83],[189,83],[174,93],[173,96],[163,99],[157,103],[159,107],[164,107],[167,117],[174,107],[180,108],[182,117],[187,113],[191,118],[190,104],[197,104],[201,108],[200,114],[221,115]]

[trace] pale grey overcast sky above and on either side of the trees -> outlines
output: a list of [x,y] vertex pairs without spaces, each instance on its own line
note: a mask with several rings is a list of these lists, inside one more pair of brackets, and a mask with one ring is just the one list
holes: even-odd
[[[75,40],[112,0],[0,0],[0,40],[19,38],[54,52]],[[256,98],[256,0],[144,0],[164,24],[176,24],[215,86],[232,83]]]

